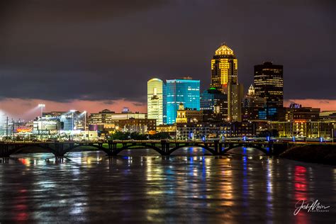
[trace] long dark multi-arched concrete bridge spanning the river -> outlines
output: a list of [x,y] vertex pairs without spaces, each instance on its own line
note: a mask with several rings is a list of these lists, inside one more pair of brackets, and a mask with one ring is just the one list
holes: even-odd
[[25,149],[40,148],[51,152],[55,157],[64,157],[67,152],[79,150],[79,147],[93,147],[96,150],[106,152],[109,156],[118,155],[123,150],[136,150],[150,148],[160,155],[171,155],[181,147],[202,147],[212,155],[223,155],[237,147],[252,147],[264,152],[265,155],[279,155],[288,149],[294,142],[266,142],[266,141],[242,141],[227,140],[214,141],[181,141],[181,140],[110,140],[107,142],[0,142],[0,157],[10,157]]

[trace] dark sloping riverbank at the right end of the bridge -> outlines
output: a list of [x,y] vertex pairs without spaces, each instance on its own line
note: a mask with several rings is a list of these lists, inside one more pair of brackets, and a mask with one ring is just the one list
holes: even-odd
[[336,145],[303,145],[292,147],[279,157],[302,162],[336,165]]

